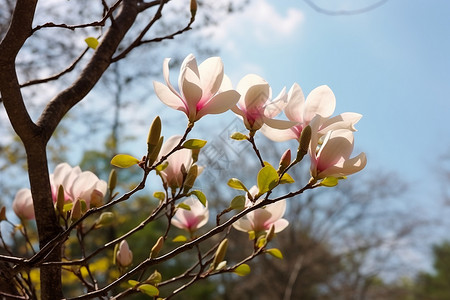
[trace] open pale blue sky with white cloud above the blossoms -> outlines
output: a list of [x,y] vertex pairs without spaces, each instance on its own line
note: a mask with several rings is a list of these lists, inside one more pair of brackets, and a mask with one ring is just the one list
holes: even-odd
[[[374,2],[315,1],[347,10]],[[353,16],[320,14],[300,0],[255,0],[224,20],[211,43],[234,84],[257,73],[275,94],[294,82],[305,94],[329,85],[336,114],[364,115],[356,151],[367,153],[367,169],[395,171],[414,195],[436,199],[436,164],[450,150],[449,12],[445,0],[390,0]]]

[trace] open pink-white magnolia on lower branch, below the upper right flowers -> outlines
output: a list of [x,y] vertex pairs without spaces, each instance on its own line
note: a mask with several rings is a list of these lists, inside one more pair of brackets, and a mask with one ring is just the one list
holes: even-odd
[[[256,195],[258,193],[258,188],[253,186],[249,192],[252,195]],[[261,200],[258,200],[255,203],[252,203],[250,199],[247,198],[245,206],[250,207],[258,204],[260,201]],[[259,233],[266,232],[273,225],[275,229],[274,232],[277,233],[289,225],[289,222],[286,219],[282,219],[285,210],[286,200],[281,200],[249,212],[244,217],[234,222],[233,227],[244,232],[254,231],[255,234],[258,235]]]

